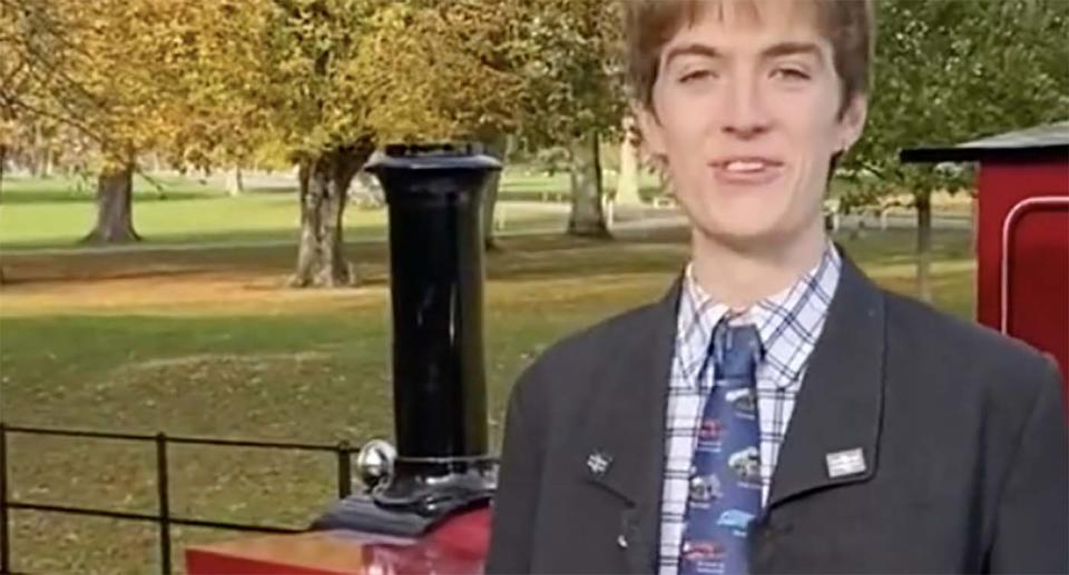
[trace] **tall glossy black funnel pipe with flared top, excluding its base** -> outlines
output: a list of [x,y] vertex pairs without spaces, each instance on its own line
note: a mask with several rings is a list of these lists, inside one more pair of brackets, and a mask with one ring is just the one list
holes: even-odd
[[484,457],[482,189],[501,165],[465,148],[389,147],[365,169],[390,210],[398,470]]

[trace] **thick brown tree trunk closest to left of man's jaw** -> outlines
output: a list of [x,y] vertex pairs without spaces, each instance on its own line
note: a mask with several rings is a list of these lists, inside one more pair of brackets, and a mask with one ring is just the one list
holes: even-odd
[[609,237],[601,209],[601,152],[597,132],[580,139],[572,147],[571,215],[568,234],[582,237]]

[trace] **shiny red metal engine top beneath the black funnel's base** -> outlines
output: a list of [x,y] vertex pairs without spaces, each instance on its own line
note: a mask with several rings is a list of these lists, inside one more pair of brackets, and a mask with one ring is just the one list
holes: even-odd
[[354,532],[267,535],[192,546],[189,575],[475,575],[483,571],[490,510],[459,515],[418,541]]

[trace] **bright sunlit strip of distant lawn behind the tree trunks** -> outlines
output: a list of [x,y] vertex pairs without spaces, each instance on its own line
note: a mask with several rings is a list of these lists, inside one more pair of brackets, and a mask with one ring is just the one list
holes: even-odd
[[[300,206],[295,188],[251,188],[231,197],[218,182],[161,177],[157,189],[135,177],[134,228],[146,244],[231,244],[295,241]],[[284,182],[283,182],[284,184]],[[567,198],[566,176],[509,172],[502,198],[541,200]],[[507,230],[560,225],[560,210],[532,210],[508,206]],[[27,249],[75,246],[96,221],[90,182],[73,178],[29,179],[4,177],[0,195],[0,248]],[[351,238],[381,238],[385,210],[350,206],[345,227]]]

